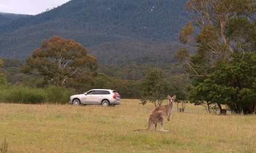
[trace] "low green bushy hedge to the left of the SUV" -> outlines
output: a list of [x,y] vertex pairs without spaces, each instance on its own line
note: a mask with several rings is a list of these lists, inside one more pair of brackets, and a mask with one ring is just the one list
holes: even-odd
[[0,86],[0,101],[20,104],[67,104],[75,90],[57,86],[31,88],[25,86]]

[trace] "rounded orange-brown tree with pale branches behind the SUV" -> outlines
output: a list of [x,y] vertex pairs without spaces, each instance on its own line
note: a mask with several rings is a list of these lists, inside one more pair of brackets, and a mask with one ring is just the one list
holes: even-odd
[[43,40],[32,57],[27,57],[24,72],[35,69],[51,84],[79,87],[93,82],[97,66],[97,59],[87,54],[84,46],[72,39],[53,35],[49,40]]

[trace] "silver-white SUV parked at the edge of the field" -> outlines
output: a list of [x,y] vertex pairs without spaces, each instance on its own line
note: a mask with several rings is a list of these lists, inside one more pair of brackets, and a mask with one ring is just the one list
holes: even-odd
[[84,94],[70,96],[69,103],[80,104],[99,104],[104,107],[120,104],[120,95],[114,90],[93,89]]

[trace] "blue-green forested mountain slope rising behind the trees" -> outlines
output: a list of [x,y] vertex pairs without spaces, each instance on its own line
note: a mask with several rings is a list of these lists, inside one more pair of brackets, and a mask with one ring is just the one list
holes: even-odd
[[72,0],[38,15],[0,16],[0,56],[24,60],[59,35],[100,63],[173,62],[185,0]]

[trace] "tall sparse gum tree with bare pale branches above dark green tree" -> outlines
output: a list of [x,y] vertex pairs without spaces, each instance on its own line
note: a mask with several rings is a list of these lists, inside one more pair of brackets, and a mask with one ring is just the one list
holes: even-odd
[[175,57],[184,64],[187,76],[209,76],[218,61],[229,61],[232,53],[256,52],[255,0],[189,0],[191,16],[179,39],[195,46],[191,54],[181,48]]

